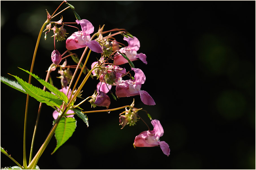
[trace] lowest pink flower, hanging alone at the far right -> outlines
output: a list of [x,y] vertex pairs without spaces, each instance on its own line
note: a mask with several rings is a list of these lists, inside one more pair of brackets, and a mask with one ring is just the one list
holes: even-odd
[[159,120],[152,120],[151,124],[154,129],[152,131],[143,131],[138,136],[135,137],[134,146],[135,147],[154,147],[160,146],[163,153],[167,156],[170,155],[169,145],[165,141],[160,141],[159,138],[163,136],[163,127]]

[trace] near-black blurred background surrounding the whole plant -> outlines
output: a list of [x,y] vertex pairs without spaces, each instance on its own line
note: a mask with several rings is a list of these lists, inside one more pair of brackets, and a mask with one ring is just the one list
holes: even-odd
[[[45,9],[52,14],[61,2],[1,1],[1,76],[14,79],[10,73],[28,80],[29,75],[17,67],[30,70]],[[156,105],[144,105],[135,96],[117,102],[111,98],[110,108],[131,104],[135,98],[135,107],[160,120],[164,129],[160,140],[171,151],[167,157],[160,147],[134,149],[135,136],[147,127],[139,121],[120,129],[122,110],[89,113],[89,127],[76,117],[73,136],[50,155],[56,146],[52,138],[38,162],[41,169],[255,169],[255,1],[68,2],[81,19],[93,24],[95,32],[105,24],[105,31],[125,28],[139,39],[138,53],[146,54],[148,64],[134,61],[134,65],[145,73],[141,89]],[[61,15],[64,22],[75,22],[70,9]],[[65,28],[68,36],[77,31]],[[52,34],[46,41],[41,37],[33,70],[44,79],[54,49]],[[116,37],[122,40],[121,35]],[[65,41],[57,42],[56,48],[63,53]],[[75,52],[81,55],[83,49]],[[99,55],[92,53],[87,66],[95,57]],[[129,70],[129,65],[124,67]],[[93,94],[98,83],[88,82],[84,98]],[[32,84],[42,88],[35,79]],[[60,79],[54,79],[54,84],[60,88]],[[25,103],[25,94],[1,83],[1,147],[20,164]],[[27,158],[38,106],[30,97]],[[81,107],[91,110],[89,102]],[[34,154],[52,127],[52,112],[43,105]],[[146,114],[140,115],[153,128]],[[14,165],[1,153],[1,167]]]

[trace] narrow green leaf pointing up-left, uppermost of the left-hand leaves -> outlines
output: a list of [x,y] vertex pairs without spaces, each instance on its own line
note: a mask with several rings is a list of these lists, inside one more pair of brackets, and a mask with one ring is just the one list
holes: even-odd
[[[18,67],[19,68],[19,67]],[[56,87],[54,87],[53,85],[51,85],[50,83],[46,82],[45,80],[41,79],[40,77],[38,77],[37,75],[31,73],[30,71],[24,70],[22,68],[19,68],[27,73],[29,73],[30,75],[32,75],[36,80],[38,80],[43,86],[45,86],[47,89],[49,89],[52,93],[54,93],[56,96],[58,96],[60,99],[62,99],[64,102],[68,103],[68,98],[66,96],[66,94],[64,94],[62,91],[59,91]]]

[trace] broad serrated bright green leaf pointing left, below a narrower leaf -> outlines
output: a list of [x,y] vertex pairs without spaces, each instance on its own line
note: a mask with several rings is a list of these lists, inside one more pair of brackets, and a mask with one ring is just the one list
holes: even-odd
[[[11,74],[10,74],[11,75]],[[62,100],[58,98],[58,96],[44,91],[38,87],[29,84],[19,77],[12,75],[19,82],[19,84],[23,87],[23,89],[31,96],[34,97],[37,101],[47,104],[48,106],[56,106],[60,108],[62,105]]]

